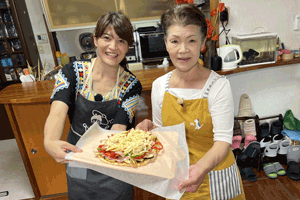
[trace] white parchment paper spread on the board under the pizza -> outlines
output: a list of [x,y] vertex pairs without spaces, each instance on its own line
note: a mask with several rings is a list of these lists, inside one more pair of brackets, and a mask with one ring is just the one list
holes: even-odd
[[154,162],[132,168],[103,163],[94,154],[101,139],[120,131],[102,129],[97,123],[80,138],[76,146],[82,153],[69,153],[70,167],[89,168],[168,199],[180,199],[179,183],[188,178],[189,154],[184,123],[160,127],[152,132],[164,146]]

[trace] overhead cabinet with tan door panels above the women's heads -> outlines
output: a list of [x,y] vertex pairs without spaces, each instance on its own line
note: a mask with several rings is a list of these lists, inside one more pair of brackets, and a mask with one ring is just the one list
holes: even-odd
[[[217,0],[211,0],[217,1]],[[203,11],[209,17],[210,1]],[[160,19],[175,0],[41,0],[51,31],[95,27],[99,17],[108,11],[122,11],[130,21]]]

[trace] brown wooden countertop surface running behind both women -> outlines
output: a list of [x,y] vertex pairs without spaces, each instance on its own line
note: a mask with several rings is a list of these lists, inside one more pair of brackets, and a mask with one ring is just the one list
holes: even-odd
[[[217,71],[220,75],[230,75],[245,71],[257,70],[262,68],[276,67],[282,65],[299,64],[300,58],[294,58],[289,61],[277,61],[276,63],[255,65],[250,67],[241,67],[230,70]],[[153,81],[174,70],[175,67],[167,68],[152,68],[144,70],[136,70],[133,73],[141,81],[143,91],[150,91]],[[15,104],[15,103],[33,103],[33,102],[49,102],[54,87],[54,80],[31,82],[31,83],[16,83],[4,88],[0,91],[0,104]]]

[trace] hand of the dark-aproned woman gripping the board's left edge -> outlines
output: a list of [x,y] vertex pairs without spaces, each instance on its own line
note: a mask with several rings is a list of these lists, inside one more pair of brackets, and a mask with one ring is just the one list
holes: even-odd
[[44,147],[48,154],[52,156],[56,162],[61,164],[69,162],[65,159],[67,150],[70,150],[74,153],[82,152],[82,149],[79,149],[78,147],[62,140],[44,141]]

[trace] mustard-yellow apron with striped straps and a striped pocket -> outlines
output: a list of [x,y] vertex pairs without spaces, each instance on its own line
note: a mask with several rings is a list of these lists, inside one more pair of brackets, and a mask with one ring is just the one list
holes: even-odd
[[[184,100],[183,106],[177,103],[178,97],[170,94],[169,79],[166,81],[162,105],[163,126],[185,122],[186,140],[189,147],[190,164],[195,164],[212,148],[213,124],[208,108],[208,94],[216,77],[204,93],[202,99]],[[184,193],[181,199],[245,199],[242,180],[231,149],[219,165],[204,178],[196,193]]]

